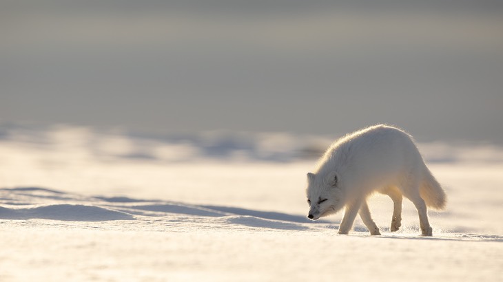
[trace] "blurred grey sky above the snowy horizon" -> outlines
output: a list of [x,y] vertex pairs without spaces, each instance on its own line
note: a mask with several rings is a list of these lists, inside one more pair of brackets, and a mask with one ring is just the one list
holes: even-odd
[[0,123],[503,144],[500,1],[0,1]]

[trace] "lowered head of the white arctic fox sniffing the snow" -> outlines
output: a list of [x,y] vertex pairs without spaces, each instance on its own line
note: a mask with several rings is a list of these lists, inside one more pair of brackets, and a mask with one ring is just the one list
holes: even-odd
[[336,171],[327,175],[307,173],[306,194],[309,219],[316,220],[337,213],[344,206],[340,177]]

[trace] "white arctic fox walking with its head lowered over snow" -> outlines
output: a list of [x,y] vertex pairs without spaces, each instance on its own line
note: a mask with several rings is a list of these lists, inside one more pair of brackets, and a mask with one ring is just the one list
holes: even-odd
[[411,135],[379,124],[340,138],[318,161],[314,173],[307,173],[309,219],[319,219],[345,208],[339,234],[347,234],[356,213],[371,235],[380,235],[370,215],[367,197],[373,192],[393,200],[391,231],[402,221],[402,195],[418,209],[421,232],[431,236],[427,206],[441,210],[446,204],[444,190],[424,164]]

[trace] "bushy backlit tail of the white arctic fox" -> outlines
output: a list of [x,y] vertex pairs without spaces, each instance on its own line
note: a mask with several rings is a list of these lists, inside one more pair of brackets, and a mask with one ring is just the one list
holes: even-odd
[[427,206],[435,210],[443,210],[445,208],[447,202],[445,191],[426,166],[424,166],[419,193]]

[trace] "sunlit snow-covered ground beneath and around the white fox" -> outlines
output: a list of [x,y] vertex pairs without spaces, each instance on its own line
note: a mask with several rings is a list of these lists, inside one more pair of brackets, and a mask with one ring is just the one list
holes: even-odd
[[449,197],[433,237],[407,200],[389,232],[382,195],[371,237],[305,218],[330,141],[0,127],[0,281],[503,281],[500,147],[420,144]]

